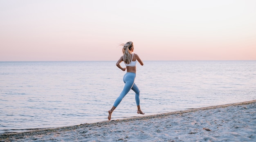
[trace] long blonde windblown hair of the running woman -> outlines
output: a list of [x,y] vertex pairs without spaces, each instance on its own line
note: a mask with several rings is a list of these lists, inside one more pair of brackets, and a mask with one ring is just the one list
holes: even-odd
[[121,44],[123,46],[124,53],[124,63],[129,64],[132,61],[132,51],[133,42],[126,42],[126,44]]

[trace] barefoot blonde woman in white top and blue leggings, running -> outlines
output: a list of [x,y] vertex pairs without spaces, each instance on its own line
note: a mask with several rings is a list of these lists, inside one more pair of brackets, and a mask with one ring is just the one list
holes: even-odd
[[[136,100],[136,105],[137,105],[137,113],[138,114],[144,114],[139,106],[139,88],[137,85],[134,83],[135,77],[136,77],[136,62],[138,61],[141,66],[143,66],[143,62],[139,58],[139,56],[135,53],[132,54],[134,47],[133,47],[133,42],[127,42],[126,44],[121,44],[123,46],[123,53],[124,55],[120,57],[120,59],[117,61],[116,65],[118,68],[121,70],[125,71],[127,69],[126,74],[124,74],[124,89],[121,92],[120,96],[115,100],[115,103],[113,107],[108,111],[108,120],[111,119],[111,114],[117,108],[121,100],[126,96],[126,94],[130,91],[133,90],[135,92],[135,100]],[[126,68],[122,68],[120,63],[124,61],[124,64],[126,65]]]

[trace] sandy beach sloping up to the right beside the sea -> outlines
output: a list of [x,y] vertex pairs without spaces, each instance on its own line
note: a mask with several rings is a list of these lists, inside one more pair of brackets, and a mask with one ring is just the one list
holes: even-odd
[[[106,111],[106,119],[108,112]],[[1,142],[255,142],[256,100],[0,135]]]

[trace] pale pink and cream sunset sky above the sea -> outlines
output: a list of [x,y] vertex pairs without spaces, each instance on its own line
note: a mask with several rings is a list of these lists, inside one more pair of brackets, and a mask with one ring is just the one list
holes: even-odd
[[0,0],[0,61],[256,60],[256,0]]

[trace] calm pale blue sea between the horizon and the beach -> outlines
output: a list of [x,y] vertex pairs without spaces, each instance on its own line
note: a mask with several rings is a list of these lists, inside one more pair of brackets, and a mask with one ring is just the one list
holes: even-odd
[[[0,133],[108,120],[124,74],[115,61],[0,62]],[[256,61],[144,61],[135,83],[145,115],[255,100]],[[130,91],[112,119],[136,112]]]

